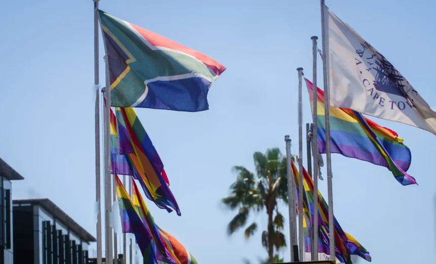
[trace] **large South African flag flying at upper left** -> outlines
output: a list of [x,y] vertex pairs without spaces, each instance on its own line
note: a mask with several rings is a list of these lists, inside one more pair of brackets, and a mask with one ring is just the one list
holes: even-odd
[[212,58],[99,10],[112,106],[198,112],[226,69]]

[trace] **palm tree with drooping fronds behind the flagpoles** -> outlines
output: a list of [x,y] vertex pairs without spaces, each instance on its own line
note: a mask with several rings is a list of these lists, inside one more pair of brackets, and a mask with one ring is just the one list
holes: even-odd
[[[287,203],[286,158],[278,148],[268,149],[265,154],[255,152],[253,159],[256,166],[255,174],[243,166],[235,166],[236,181],[230,186],[231,195],[222,200],[231,210],[238,209],[228,225],[228,233],[245,227],[250,212],[261,212],[266,209],[268,228],[262,232],[262,245],[268,252],[267,262],[279,259],[274,254],[286,246],[282,233],[284,217],[278,211],[277,202]],[[245,238],[250,238],[258,229],[256,223],[250,224],[244,231]]]

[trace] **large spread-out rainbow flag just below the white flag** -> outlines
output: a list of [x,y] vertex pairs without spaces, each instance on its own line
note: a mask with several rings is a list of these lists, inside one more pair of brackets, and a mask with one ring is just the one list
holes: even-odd
[[[305,80],[312,103],[313,84]],[[318,152],[325,153],[324,92],[319,88],[317,96]],[[405,172],[410,167],[411,152],[395,131],[353,110],[331,107],[330,137],[332,153],[387,167],[402,185],[416,184],[415,179]]]

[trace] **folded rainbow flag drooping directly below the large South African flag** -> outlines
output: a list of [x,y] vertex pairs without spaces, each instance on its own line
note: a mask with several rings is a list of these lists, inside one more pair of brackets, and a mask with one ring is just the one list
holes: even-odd
[[[163,164],[156,152],[146,130],[142,126],[133,108],[116,108],[118,127],[126,128],[130,145],[134,154],[126,154],[135,167],[137,180],[141,182],[144,192],[151,194],[152,200],[160,204],[168,211],[174,209],[177,215],[181,215],[168,183],[162,176]],[[121,135],[121,133],[120,133]],[[121,144],[121,141],[120,141]],[[166,173],[164,172],[166,176]],[[148,190],[145,190],[148,189]]]

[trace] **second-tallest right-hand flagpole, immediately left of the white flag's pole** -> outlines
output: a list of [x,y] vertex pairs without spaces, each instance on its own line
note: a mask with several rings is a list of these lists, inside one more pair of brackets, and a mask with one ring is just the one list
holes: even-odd
[[312,36],[313,53],[313,260],[318,260],[318,118],[317,118],[317,86],[316,86],[316,40],[317,36]]

